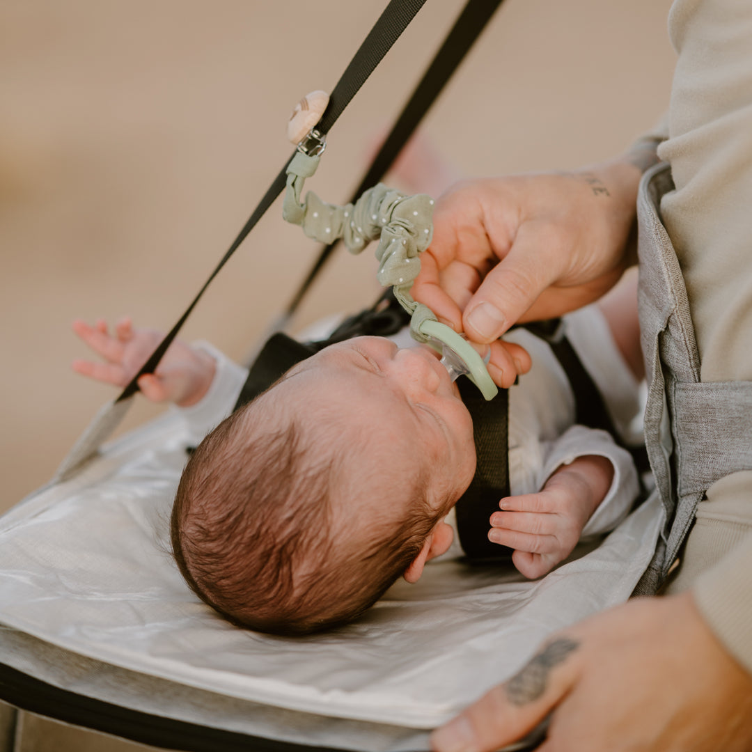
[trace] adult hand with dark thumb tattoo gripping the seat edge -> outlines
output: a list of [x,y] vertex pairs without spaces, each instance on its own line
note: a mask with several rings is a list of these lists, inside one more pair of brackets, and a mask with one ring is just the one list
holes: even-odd
[[434,732],[437,752],[490,752],[550,714],[540,752],[745,752],[752,677],[690,593],[635,599],[553,636],[510,681]]

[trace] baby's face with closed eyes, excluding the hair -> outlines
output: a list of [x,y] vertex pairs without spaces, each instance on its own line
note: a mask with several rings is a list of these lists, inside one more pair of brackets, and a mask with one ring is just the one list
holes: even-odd
[[435,503],[456,500],[472,481],[472,419],[429,347],[399,350],[381,337],[334,344],[291,368],[267,398],[344,427],[332,449],[354,450],[365,481],[422,473]]

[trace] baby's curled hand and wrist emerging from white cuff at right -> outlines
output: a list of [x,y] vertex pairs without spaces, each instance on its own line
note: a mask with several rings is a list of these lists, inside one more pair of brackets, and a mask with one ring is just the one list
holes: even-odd
[[512,562],[525,577],[542,577],[572,553],[613,478],[605,457],[582,456],[561,465],[538,493],[502,499],[502,511],[490,517],[488,538],[514,548]]

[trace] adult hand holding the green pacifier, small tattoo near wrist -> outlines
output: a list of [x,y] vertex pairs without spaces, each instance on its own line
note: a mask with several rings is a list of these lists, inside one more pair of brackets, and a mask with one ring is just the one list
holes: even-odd
[[436,202],[414,298],[479,343],[592,302],[629,261],[640,177],[624,156],[587,171],[456,183]]

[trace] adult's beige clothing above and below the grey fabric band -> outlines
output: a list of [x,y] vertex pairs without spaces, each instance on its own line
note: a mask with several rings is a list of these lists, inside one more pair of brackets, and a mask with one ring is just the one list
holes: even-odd
[[[702,381],[752,381],[752,3],[675,0],[669,33],[678,63],[658,153],[676,190],[663,198],[663,221]],[[682,569],[711,629],[752,672],[752,472],[708,490]]]

